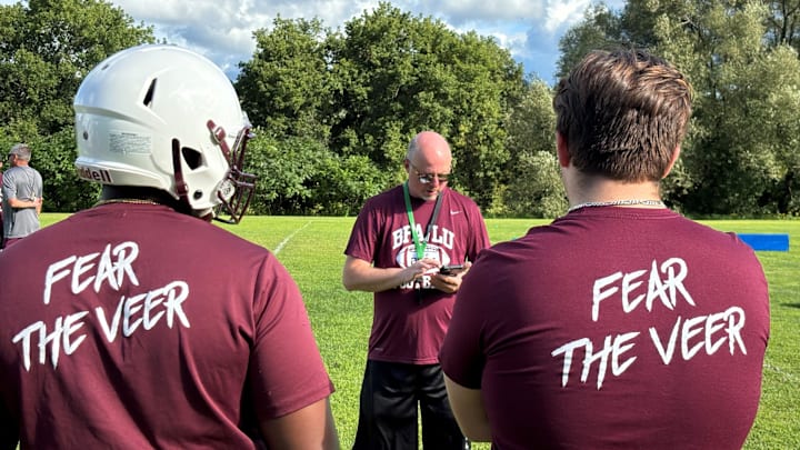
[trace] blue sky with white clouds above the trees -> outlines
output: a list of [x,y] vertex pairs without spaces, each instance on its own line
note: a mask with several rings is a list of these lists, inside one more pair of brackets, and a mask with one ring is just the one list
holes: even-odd
[[[0,0],[0,4],[17,3]],[[508,49],[526,73],[548,83],[556,81],[558,42],[569,27],[583,18],[597,0],[393,0],[391,4],[414,17],[432,17],[456,32],[476,31],[493,37]],[[256,50],[252,37],[270,29],[272,20],[313,19],[337,29],[379,0],[111,0],[134,22],[152,26],[157,38],[204,54],[236,78],[238,63]],[[624,0],[606,0],[618,10]]]

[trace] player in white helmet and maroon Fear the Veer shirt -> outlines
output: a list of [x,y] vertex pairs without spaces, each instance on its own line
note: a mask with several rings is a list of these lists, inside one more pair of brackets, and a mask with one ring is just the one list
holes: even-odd
[[297,284],[209,223],[241,220],[254,182],[230,80],[140,46],[96,67],[74,110],[102,198],[0,258],[0,447],[337,448]]

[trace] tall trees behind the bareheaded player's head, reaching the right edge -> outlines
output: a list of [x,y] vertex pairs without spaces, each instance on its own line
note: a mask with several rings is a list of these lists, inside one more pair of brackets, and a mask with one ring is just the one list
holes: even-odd
[[[776,4],[787,7],[780,17]],[[791,4],[630,0],[616,22],[587,14],[577,27],[606,33],[607,42],[648,47],[692,82],[690,133],[681,163],[664,183],[673,207],[698,214],[798,213],[791,133],[800,103],[797,53],[788,46],[797,17]],[[563,54],[562,61],[577,57]]]

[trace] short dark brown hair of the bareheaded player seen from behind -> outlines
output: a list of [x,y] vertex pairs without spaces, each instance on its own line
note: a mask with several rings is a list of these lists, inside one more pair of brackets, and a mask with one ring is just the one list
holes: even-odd
[[691,84],[644,50],[592,51],[553,98],[557,131],[581,172],[659,181],[686,136]]

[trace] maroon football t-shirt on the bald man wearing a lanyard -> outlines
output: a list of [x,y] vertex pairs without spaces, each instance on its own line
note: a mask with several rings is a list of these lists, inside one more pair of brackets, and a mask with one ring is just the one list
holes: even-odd
[[[427,233],[436,201],[411,198],[419,238],[427,241],[424,256],[442,264],[474,261],[489,247],[489,234],[478,206],[446,189],[436,222]],[[367,200],[353,226],[344,254],[378,268],[408,267],[417,258],[402,186]],[[467,276],[466,276],[467,277]],[[456,296],[444,293],[423,277],[421,298],[414,286],[374,293],[369,359],[411,364],[439,362],[439,348],[452,316]]]

